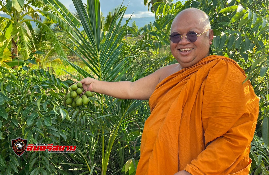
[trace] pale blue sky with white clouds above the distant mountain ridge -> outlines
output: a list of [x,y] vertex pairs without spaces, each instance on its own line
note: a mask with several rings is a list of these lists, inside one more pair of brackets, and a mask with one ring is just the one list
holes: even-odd
[[[75,6],[73,5],[72,0],[59,0],[69,11],[75,11]],[[86,0],[82,0],[83,3],[87,3]],[[127,6],[124,17],[132,18],[137,17],[154,17],[154,13],[148,12],[148,7],[144,5],[144,0],[100,0],[101,12],[103,16],[106,17],[108,12],[114,9],[116,6],[121,5]],[[129,4],[128,4],[129,3]]]

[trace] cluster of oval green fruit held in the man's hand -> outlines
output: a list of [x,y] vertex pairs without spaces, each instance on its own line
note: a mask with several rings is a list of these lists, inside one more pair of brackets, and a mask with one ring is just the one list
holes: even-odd
[[82,87],[82,83],[78,82],[70,86],[70,92],[66,95],[66,105],[71,105],[72,107],[87,105],[89,103],[89,98],[92,97],[93,93],[91,91],[86,91],[85,93]]

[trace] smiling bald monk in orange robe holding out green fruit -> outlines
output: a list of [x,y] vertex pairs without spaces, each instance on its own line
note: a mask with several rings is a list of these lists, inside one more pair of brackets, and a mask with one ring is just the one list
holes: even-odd
[[212,39],[208,16],[185,9],[171,26],[178,64],[134,82],[81,81],[112,97],[149,99],[136,175],[249,174],[259,98],[235,61],[209,56]]

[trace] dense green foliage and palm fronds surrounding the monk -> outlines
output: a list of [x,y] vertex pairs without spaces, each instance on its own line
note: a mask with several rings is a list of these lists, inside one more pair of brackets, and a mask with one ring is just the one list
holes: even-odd
[[[104,21],[99,1],[89,0],[85,5],[73,0],[76,15],[57,0],[12,2],[18,3],[3,1],[0,4],[1,11],[11,16],[11,19],[0,18],[0,175],[135,174],[141,133],[150,113],[147,101],[115,99],[96,93],[89,98],[87,106],[73,108],[65,106],[66,91],[73,80],[83,77],[135,81],[175,63],[169,51],[171,22],[180,10],[189,7],[199,8],[210,16],[215,33],[211,52],[236,60],[260,98],[250,173],[269,174],[268,1],[145,0],[145,5],[155,13],[156,21],[140,29],[135,24],[127,26],[128,21],[120,25],[126,10],[122,6],[112,10]],[[26,28],[23,23],[27,22],[19,16],[27,13],[30,3],[39,7],[38,12],[47,20],[41,23],[33,19],[38,28],[26,34],[26,29],[31,27]],[[37,12],[30,11],[33,15]],[[20,20],[12,18],[15,14]],[[52,30],[52,23],[57,23],[61,30]],[[20,38],[15,32],[18,25],[24,27],[20,28],[23,32]],[[21,40],[14,55],[12,40]],[[72,63],[62,53],[52,52],[50,43],[57,43],[59,51],[68,49],[86,68]],[[67,72],[73,80],[61,80],[47,67],[29,67],[36,64],[36,60],[51,59],[48,53],[74,67],[75,73]],[[7,69],[15,65],[18,67]],[[11,140],[17,137],[27,139],[28,144],[53,143],[77,148],[75,153],[26,151],[17,157],[11,148]]]

